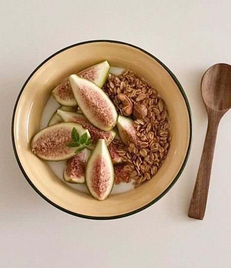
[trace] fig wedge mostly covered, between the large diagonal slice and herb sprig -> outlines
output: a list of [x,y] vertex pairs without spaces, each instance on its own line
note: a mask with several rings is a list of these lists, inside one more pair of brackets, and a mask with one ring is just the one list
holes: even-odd
[[116,135],[116,132],[114,130],[102,131],[100,129],[97,129],[88,121],[85,115],[62,110],[58,110],[57,113],[63,119],[63,121],[76,122],[80,124],[84,129],[87,129],[89,131],[91,138],[93,139],[92,145],[88,147],[90,150],[95,147],[98,139],[105,139],[107,145],[109,145]]

